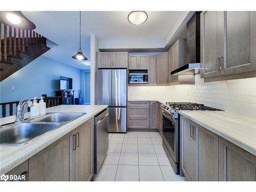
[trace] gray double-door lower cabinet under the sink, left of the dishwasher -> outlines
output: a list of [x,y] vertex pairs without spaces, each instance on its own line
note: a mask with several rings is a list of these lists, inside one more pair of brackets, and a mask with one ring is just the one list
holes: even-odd
[[29,181],[89,181],[93,177],[93,119],[29,159]]

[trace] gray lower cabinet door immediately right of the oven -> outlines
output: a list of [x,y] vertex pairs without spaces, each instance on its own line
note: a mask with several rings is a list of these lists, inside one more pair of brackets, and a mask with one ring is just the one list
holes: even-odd
[[196,172],[196,140],[193,138],[193,126],[189,121],[181,116],[180,119],[180,137],[181,137],[181,169],[185,177],[190,181],[197,180]]

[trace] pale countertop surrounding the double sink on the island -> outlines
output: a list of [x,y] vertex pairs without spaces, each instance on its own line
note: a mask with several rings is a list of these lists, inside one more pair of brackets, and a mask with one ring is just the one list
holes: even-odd
[[[0,175],[9,172],[12,168],[26,161],[36,153],[43,150],[54,141],[74,130],[77,126],[86,122],[96,114],[106,109],[108,105],[59,105],[52,108],[47,108],[47,113],[65,112],[65,113],[87,113],[56,130],[38,137],[36,140],[19,146],[3,146],[0,145]],[[25,114],[25,118],[29,117],[30,113]],[[5,117],[0,119],[1,124],[15,121],[15,116]]]

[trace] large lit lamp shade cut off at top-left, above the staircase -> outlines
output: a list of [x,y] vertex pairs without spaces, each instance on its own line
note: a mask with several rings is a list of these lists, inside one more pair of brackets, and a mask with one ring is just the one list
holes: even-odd
[[33,24],[21,11],[1,11],[1,23],[18,29],[35,29]]

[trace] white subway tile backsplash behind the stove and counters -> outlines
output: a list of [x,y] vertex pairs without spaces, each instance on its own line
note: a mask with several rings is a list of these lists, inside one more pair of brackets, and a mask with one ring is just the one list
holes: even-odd
[[256,78],[205,83],[198,74],[193,86],[129,86],[129,99],[198,102],[256,118]]

